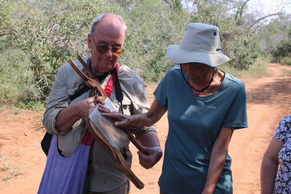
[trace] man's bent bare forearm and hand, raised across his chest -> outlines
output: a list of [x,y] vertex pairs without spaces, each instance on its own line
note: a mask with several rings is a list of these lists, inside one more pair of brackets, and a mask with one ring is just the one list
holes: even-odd
[[[97,102],[104,104],[103,97],[98,97]],[[94,97],[91,97],[64,108],[56,117],[56,128],[61,132],[70,130],[73,124],[81,117],[85,117],[88,110],[94,105]]]

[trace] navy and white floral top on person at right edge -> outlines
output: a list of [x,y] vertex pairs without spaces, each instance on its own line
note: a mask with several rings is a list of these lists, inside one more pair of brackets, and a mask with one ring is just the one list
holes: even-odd
[[273,137],[285,142],[279,152],[280,168],[275,179],[274,193],[291,193],[291,115],[286,115],[278,124]]

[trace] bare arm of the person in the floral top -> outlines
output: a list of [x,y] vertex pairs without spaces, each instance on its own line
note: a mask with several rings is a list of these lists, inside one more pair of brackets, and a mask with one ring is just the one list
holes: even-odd
[[261,164],[261,194],[273,194],[275,178],[278,172],[278,154],[284,145],[283,141],[272,138]]

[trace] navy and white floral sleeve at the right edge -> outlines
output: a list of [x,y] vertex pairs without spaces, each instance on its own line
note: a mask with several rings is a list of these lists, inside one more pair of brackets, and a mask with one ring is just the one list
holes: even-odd
[[277,128],[274,131],[273,138],[285,142],[286,135],[291,127],[291,115],[286,115],[279,122]]

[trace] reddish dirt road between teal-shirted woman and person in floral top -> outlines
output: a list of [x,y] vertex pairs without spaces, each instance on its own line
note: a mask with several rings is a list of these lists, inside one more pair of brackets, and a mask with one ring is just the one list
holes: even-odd
[[[260,193],[260,165],[278,122],[290,113],[291,81],[284,70],[270,64],[269,76],[246,83],[249,128],[236,130],[230,141],[233,193]],[[256,99],[257,98],[257,99]],[[249,99],[249,98],[248,98]]]

